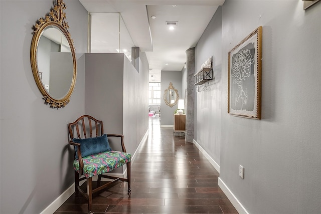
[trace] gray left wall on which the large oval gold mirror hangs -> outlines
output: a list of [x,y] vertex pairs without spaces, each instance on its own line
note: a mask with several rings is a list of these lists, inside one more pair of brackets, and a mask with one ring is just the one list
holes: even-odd
[[73,183],[67,123],[84,113],[88,14],[78,1],[65,3],[78,70],[70,103],[57,110],[44,104],[30,65],[33,25],[52,0],[0,1],[1,213],[39,213]]

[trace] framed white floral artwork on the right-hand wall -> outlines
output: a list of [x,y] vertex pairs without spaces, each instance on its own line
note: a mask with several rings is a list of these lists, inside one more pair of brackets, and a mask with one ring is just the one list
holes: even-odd
[[262,26],[228,54],[228,114],[261,119]]

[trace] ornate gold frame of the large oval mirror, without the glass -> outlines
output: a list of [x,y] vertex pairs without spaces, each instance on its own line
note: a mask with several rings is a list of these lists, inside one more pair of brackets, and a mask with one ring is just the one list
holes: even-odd
[[[66,5],[63,2],[63,0],[57,0],[57,5],[54,5],[54,8],[51,10],[51,12],[46,15],[46,18],[45,19],[40,18],[36,22],[36,25],[33,26],[34,36],[32,38],[31,50],[30,50],[31,67],[32,67],[32,72],[33,72],[33,76],[35,78],[36,84],[39,90],[41,91],[42,95],[44,96],[45,102],[47,104],[50,104],[50,107],[57,108],[57,109],[64,107],[69,103],[70,96],[76,84],[76,76],[77,76],[75,48],[73,45],[73,40],[70,37],[70,33],[67,30],[69,26],[68,26],[68,23],[65,21],[66,13],[63,12],[63,10],[65,9],[66,9]],[[71,50],[71,55],[72,55],[73,75],[72,75],[71,86],[69,88],[69,91],[66,92],[66,95],[63,98],[55,98],[49,94],[49,92],[45,89],[44,85],[42,84],[41,71],[39,71],[39,68],[38,68],[37,51],[38,51],[39,40],[44,30],[49,27],[54,27],[62,32],[62,34],[65,36],[65,38],[68,41],[68,44]]]

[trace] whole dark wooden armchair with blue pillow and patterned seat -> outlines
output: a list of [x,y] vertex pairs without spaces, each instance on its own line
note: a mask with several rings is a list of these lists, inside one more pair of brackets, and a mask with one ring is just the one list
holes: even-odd
[[[93,136],[93,132],[95,135]],[[128,194],[130,193],[130,158],[126,153],[123,135],[104,134],[103,122],[89,115],[79,117],[75,122],[68,124],[69,144],[75,148],[73,166],[75,169],[75,193],[80,192],[88,201],[88,212],[92,213],[93,193],[107,188],[117,181],[126,181]],[[107,138],[108,137],[108,138]],[[122,151],[114,151],[109,146],[109,140],[119,141]],[[127,178],[115,177],[103,173],[109,172],[126,163]],[[80,177],[84,175],[83,177]],[[98,175],[97,186],[93,189],[92,177]],[[101,178],[112,179],[100,185]],[[79,182],[86,179],[87,192],[84,192]]]

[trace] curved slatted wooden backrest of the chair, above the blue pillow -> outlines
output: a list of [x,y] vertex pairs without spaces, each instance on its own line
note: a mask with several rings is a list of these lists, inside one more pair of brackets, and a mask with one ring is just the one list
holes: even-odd
[[[93,136],[95,132],[95,136]],[[70,140],[73,138],[99,137],[104,134],[102,120],[97,120],[89,115],[79,117],[75,122],[68,123]]]

